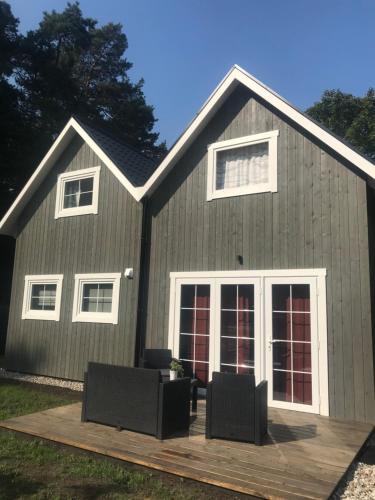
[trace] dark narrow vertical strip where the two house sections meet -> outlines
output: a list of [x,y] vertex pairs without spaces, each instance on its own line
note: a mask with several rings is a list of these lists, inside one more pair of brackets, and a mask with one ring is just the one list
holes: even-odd
[[138,304],[137,304],[137,323],[135,329],[135,353],[134,366],[139,366],[139,360],[143,355],[145,347],[145,327],[147,314],[147,217],[148,217],[148,199],[142,200],[142,230],[141,230],[141,251],[139,257],[139,284],[138,284]]

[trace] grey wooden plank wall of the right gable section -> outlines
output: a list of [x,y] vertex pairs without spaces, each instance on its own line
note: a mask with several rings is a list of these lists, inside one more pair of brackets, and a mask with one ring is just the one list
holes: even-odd
[[[277,193],[207,202],[207,145],[273,129]],[[374,420],[366,204],[364,180],[239,87],[149,201],[146,345],[167,345],[171,271],[327,268],[330,414]]]

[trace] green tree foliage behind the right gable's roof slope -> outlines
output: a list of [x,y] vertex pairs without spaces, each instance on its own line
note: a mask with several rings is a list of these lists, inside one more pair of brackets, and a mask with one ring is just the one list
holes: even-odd
[[340,90],[326,90],[307,113],[375,159],[375,91],[355,97]]

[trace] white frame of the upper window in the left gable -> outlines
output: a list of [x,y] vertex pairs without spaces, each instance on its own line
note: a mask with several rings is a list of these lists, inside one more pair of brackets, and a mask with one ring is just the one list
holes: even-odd
[[[78,181],[93,177],[93,193],[92,204],[84,207],[71,207],[64,208],[64,193],[65,184],[70,181]],[[73,172],[65,172],[60,174],[57,178],[56,188],[56,205],[55,205],[55,219],[60,217],[71,217],[75,215],[97,214],[98,213],[98,199],[99,199],[99,178],[100,167],[84,168],[82,170],[74,170]]]

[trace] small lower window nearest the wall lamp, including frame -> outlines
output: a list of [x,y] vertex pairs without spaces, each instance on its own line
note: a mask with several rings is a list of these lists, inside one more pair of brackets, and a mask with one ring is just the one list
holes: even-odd
[[116,325],[120,278],[121,273],[76,274],[72,320]]

